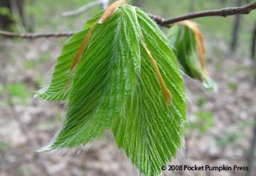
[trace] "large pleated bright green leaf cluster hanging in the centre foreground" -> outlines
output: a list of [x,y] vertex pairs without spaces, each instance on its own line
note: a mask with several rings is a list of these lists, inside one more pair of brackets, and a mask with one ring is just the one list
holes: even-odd
[[[75,39],[81,42],[86,33],[75,35],[66,45]],[[146,49],[171,92],[171,105],[166,104]],[[74,57],[75,47],[64,47],[63,53]],[[161,165],[175,157],[181,147],[186,95],[176,57],[156,23],[134,6],[119,6],[104,23],[95,25],[75,67],[69,93],[65,93],[70,57],[59,57],[48,88],[52,91],[40,94],[45,99],[68,98],[63,128],[42,150],[85,145],[108,130],[142,173],[159,175]]]

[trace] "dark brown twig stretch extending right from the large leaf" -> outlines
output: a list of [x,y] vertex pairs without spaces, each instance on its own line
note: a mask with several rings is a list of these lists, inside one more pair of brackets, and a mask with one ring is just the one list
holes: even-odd
[[196,13],[189,13],[184,16],[178,16],[176,18],[164,19],[162,23],[159,23],[160,26],[166,26],[178,21],[184,21],[193,18],[201,18],[206,16],[233,16],[236,14],[249,14],[250,11],[256,9],[256,2],[240,7],[229,7],[224,9],[210,10],[210,11],[198,11]]

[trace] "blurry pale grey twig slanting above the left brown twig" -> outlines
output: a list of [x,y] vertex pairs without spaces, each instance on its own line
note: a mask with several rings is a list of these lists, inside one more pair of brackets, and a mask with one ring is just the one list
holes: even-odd
[[[102,3],[103,3],[102,0],[93,1],[89,4],[86,4],[85,6],[80,7],[79,9],[74,10],[74,11],[65,11],[65,12],[61,13],[61,16],[63,16],[63,17],[75,16],[84,11],[87,11],[88,9],[91,9],[94,6],[101,5]],[[104,1],[104,3],[106,3],[106,2]]]

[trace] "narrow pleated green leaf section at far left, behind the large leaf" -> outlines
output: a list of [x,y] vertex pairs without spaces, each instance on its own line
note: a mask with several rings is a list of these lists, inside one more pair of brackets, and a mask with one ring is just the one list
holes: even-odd
[[55,65],[50,84],[36,92],[36,95],[50,101],[65,100],[68,98],[68,94],[70,93],[69,82],[72,82],[74,77],[74,75],[70,73],[70,67],[73,64],[75,54],[82,43],[82,39],[85,38],[92,24],[95,23],[101,15],[102,12],[97,13],[90,21],[87,21],[82,31],[73,35],[70,40],[63,45],[63,50],[58,57],[58,62],[57,65]]

